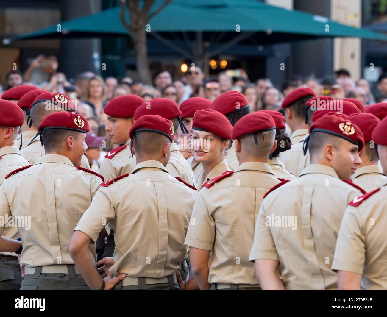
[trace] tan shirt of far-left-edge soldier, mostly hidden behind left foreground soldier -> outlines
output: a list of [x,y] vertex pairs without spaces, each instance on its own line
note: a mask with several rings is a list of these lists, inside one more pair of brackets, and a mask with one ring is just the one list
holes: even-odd
[[[0,148],[0,185],[4,182],[5,176],[10,172],[30,165],[19,153],[19,147],[14,146],[4,146]],[[5,227],[5,231],[2,236],[5,236],[9,239],[19,238],[19,232],[17,226]],[[14,255],[14,253],[9,252],[0,252],[1,255]]]

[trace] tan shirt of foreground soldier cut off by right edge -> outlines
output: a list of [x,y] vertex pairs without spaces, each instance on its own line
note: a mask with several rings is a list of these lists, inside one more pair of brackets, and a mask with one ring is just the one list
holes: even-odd
[[387,182],[361,199],[356,198],[354,202],[361,203],[348,206],[344,213],[332,269],[361,274],[364,290],[387,290]]

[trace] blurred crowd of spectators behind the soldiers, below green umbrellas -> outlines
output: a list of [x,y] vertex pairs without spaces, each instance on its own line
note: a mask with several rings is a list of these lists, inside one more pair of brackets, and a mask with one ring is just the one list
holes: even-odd
[[[294,75],[284,81],[281,87],[274,86],[269,78],[260,78],[252,82],[243,69],[225,70],[217,76],[205,77],[203,65],[200,63],[194,63],[194,67],[189,67],[180,78],[173,78],[167,70],[159,70],[153,76],[153,85],[129,77],[103,79],[91,71],[79,73],[75,78],[69,79],[64,73],[57,72],[57,69],[56,57],[39,55],[24,73],[14,70],[7,74],[6,86],[2,87],[0,84],[0,96],[11,87],[31,84],[46,91],[63,93],[76,100],[78,112],[87,118],[94,135],[89,137],[87,157],[95,171],[98,171],[99,163],[106,152],[118,146],[112,144],[110,138],[106,138],[108,133],[104,127],[107,117],[103,108],[110,99],[125,94],[141,96],[145,101],[163,97],[172,99],[180,105],[182,101],[191,97],[203,97],[213,101],[220,94],[233,90],[245,95],[252,112],[263,109],[281,112],[283,99],[299,87],[310,87],[316,96],[332,96],[334,99],[356,98],[365,106],[387,102],[387,73],[380,75],[377,82],[378,94],[373,96],[370,83],[363,78],[354,81],[346,69],[337,70],[332,76],[323,79]],[[104,149],[90,146],[94,143],[100,144],[95,142],[95,137],[105,138]]]

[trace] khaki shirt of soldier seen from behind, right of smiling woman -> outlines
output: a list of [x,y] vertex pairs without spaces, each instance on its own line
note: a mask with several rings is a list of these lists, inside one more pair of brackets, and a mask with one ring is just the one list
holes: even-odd
[[265,193],[279,180],[266,163],[246,162],[200,190],[185,244],[212,250],[208,283],[258,284],[248,258]]

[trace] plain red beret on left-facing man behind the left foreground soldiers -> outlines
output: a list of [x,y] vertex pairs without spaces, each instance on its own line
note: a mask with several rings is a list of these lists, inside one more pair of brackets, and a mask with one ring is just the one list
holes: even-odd
[[144,103],[144,99],[136,95],[123,95],[111,99],[103,108],[103,112],[111,117],[131,118],[136,109]]

